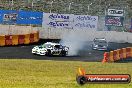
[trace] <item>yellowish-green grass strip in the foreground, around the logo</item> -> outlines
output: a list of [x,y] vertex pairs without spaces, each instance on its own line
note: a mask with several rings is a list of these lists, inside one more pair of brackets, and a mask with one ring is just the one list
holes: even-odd
[[132,88],[132,82],[80,86],[75,80],[80,66],[87,74],[132,75],[132,63],[1,59],[0,88]]

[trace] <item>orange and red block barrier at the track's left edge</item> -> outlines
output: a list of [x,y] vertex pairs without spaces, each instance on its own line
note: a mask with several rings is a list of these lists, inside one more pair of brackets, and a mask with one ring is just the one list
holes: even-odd
[[23,34],[23,35],[1,35],[0,46],[30,44],[30,43],[38,42],[39,41],[38,35],[39,35],[38,31],[34,33],[30,33],[30,34]]

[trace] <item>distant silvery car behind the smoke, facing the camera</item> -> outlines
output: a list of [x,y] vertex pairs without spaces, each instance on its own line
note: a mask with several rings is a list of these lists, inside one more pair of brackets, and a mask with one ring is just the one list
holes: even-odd
[[95,38],[93,40],[92,49],[94,50],[107,50],[108,42],[105,38]]

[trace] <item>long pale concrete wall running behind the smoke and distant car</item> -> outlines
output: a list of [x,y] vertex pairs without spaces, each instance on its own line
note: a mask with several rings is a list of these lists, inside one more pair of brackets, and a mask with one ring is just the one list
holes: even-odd
[[116,32],[116,31],[94,31],[94,30],[73,30],[73,29],[44,29],[42,27],[36,27],[40,32],[40,38],[42,39],[62,39],[66,35],[74,34],[81,38],[87,38],[88,41],[93,41],[94,38],[103,37],[108,42],[116,43],[132,43],[132,33],[130,32]]

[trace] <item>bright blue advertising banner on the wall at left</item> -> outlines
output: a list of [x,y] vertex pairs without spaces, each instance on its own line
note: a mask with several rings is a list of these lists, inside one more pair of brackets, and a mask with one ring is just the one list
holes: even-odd
[[43,12],[24,10],[0,10],[1,24],[42,25]]

